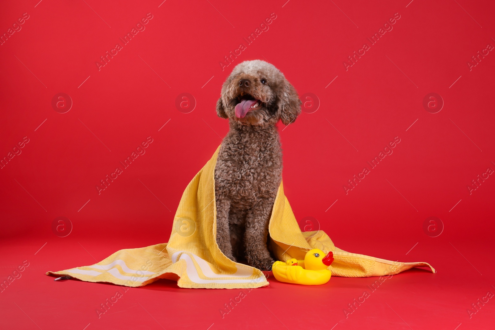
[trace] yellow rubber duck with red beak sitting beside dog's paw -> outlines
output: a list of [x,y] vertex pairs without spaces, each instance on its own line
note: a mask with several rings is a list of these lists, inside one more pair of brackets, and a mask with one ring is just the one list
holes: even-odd
[[325,254],[320,249],[306,252],[304,260],[290,259],[286,262],[275,261],[272,271],[280,282],[304,285],[321,285],[330,280],[332,272],[327,269],[334,261],[334,254]]

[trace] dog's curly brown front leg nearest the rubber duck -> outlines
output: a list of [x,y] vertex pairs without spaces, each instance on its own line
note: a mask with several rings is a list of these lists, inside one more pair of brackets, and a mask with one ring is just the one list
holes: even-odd
[[249,211],[246,217],[246,259],[249,265],[262,271],[270,271],[274,260],[268,252],[266,238],[268,222],[272,212],[274,198],[259,201]]

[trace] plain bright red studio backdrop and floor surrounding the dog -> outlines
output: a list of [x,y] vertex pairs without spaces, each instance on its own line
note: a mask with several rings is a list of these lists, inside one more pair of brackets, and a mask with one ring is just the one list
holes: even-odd
[[[471,70],[467,62],[495,46],[495,4],[334,2],[3,3],[1,34],[29,15],[0,46],[1,158],[29,139],[0,169],[1,281],[24,260],[30,263],[0,293],[5,329],[461,330],[493,324],[495,302],[480,304],[471,318],[467,310],[495,293],[495,179],[489,176],[472,194],[467,186],[495,169],[495,54]],[[145,30],[99,70],[100,56],[148,13],[153,18]],[[247,45],[243,38],[271,13],[276,19],[269,29]],[[370,44],[366,38],[396,13],[393,30],[346,71],[347,57]],[[247,49],[222,70],[224,56],[241,43]],[[249,292],[223,319],[219,309],[239,290],[180,289],[162,280],[131,289],[98,319],[95,309],[115,286],[58,283],[44,273],[168,240],[183,190],[228,131],[215,112],[221,84],[250,59],[273,63],[301,99],[312,93],[313,104],[319,102],[315,112],[306,103],[287,128],[280,124],[284,189],[301,228],[309,224],[303,218],[313,217],[306,229],[321,228],[340,248],[430,262],[438,273],[394,276],[347,318],[347,304],[376,279],[334,277],[323,286],[299,287],[270,277],[270,287]],[[58,93],[70,96],[70,111],[54,110]],[[192,112],[176,107],[181,93],[193,95]],[[423,107],[429,93],[443,98],[440,112]],[[153,142],[146,153],[99,194],[100,180],[148,137]],[[393,154],[346,194],[347,180],[395,137],[400,143]],[[73,226],[66,237],[52,231],[60,216]],[[440,236],[423,230],[431,216],[443,223]]]

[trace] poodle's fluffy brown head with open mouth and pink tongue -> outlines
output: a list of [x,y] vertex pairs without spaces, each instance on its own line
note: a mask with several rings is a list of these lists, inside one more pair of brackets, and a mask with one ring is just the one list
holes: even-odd
[[261,60],[238,64],[222,87],[216,105],[221,118],[243,125],[284,125],[294,122],[301,101],[294,87],[275,66]]

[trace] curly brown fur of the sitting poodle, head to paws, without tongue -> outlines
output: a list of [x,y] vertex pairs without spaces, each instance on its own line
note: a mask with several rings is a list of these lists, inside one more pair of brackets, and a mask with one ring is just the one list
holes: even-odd
[[[247,82],[247,83],[246,83]],[[245,117],[236,115],[242,98],[259,100]],[[294,87],[265,61],[237,65],[222,87],[216,110],[229,119],[215,166],[216,241],[231,260],[271,270],[268,222],[282,180],[282,148],[275,126],[294,122],[301,111]]]

